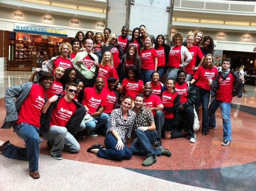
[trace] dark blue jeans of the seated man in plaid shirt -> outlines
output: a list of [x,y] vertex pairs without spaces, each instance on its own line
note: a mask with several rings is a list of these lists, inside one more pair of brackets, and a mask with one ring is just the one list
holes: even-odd
[[141,131],[136,129],[136,135],[137,138],[130,147],[134,155],[144,155],[147,158],[153,154],[161,155],[160,149],[153,148],[152,146],[157,140],[157,131]]

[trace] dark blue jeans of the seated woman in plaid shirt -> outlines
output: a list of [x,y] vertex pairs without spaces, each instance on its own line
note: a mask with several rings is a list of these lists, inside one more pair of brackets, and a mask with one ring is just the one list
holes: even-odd
[[107,149],[98,150],[97,156],[99,158],[121,160],[130,159],[132,157],[132,151],[127,144],[124,143],[125,147],[123,149],[117,150],[115,148],[117,145],[117,139],[111,132],[106,134],[104,143]]

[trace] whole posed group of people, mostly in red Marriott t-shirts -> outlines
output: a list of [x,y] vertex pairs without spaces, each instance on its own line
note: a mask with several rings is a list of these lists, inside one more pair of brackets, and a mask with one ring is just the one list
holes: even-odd
[[[2,127],[13,127],[26,148],[6,141],[0,151],[12,159],[28,160],[33,179],[40,177],[40,136],[47,140],[54,159],[63,159],[63,150],[79,152],[77,138],[101,134],[105,147],[93,144],[88,152],[106,159],[143,155],[142,165],[150,166],[157,156],[171,156],[162,147],[162,137],[196,142],[194,118],[200,105],[202,134],[217,128],[215,111],[220,107],[222,145],[230,144],[230,104],[233,96],[242,96],[244,79],[230,71],[228,58],[218,73],[212,38],[189,32],[183,46],[183,36],[177,32],[170,47],[163,35],[155,38],[144,25],[133,30],[131,39],[127,26],[121,33],[111,34],[107,28],[104,34],[78,32],[71,44],[60,45],[59,56],[43,63],[44,72],[36,69],[29,82],[7,88]],[[86,36],[85,41],[81,36]],[[164,74],[167,80],[160,82]],[[35,76],[37,83],[33,83]],[[130,147],[126,138],[135,138]]]

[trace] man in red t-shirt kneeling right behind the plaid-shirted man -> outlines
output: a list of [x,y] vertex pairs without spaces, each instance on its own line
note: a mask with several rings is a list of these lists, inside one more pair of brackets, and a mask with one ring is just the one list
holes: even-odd
[[161,133],[164,123],[163,104],[160,96],[152,94],[153,87],[151,84],[144,86],[144,107],[153,113],[155,119],[155,125],[157,130],[157,141],[155,142],[156,147],[162,148]]

